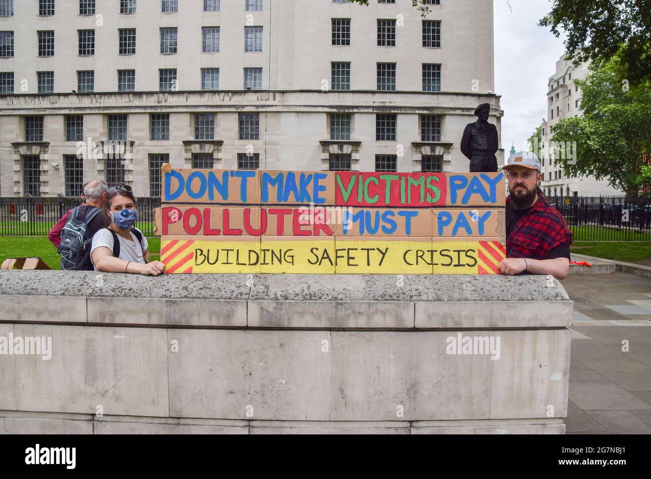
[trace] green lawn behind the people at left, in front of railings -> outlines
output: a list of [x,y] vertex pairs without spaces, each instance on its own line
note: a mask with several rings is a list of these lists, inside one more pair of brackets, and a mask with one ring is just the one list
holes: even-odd
[[[161,239],[147,238],[150,259],[160,259]],[[0,263],[5,258],[40,257],[51,269],[59,269],[57,248],[46,236],[0,236]]]

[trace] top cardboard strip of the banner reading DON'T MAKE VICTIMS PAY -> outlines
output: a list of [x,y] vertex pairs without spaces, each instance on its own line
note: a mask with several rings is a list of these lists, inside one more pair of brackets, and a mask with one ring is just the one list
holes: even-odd
[[504,207],[503,173],[162,168],[162,202],[212,205]]

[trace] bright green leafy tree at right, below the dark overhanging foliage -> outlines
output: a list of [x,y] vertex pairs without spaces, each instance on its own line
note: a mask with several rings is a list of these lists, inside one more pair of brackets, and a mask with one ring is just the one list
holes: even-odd
[[[651,80],[622,84],[620,54],[592,65],[581,87],[583,116],[562,118],[551,141],[575,142],[575,159],[557,160],[566,176],[594,175],[614,188],[637,195],[645,154],[651,151]],[[566,155],[567,156],[567,155]]]

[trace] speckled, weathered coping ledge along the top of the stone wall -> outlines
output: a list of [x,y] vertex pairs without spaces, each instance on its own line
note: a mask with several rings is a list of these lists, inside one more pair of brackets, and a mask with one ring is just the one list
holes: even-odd
[[0,270],[0,302],[0,322],[179,328],[566,327],[572,316],[545,276]]

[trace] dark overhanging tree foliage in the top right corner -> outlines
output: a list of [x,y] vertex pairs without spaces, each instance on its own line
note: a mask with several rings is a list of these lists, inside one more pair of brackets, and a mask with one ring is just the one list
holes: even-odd
[[651,78],[650,0],[552,0],[538,23],[567,34],[565,50],[576,63],[605,63],[620,54],[624,77],[637,84]]

